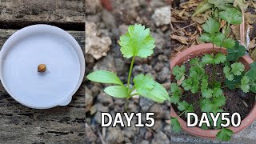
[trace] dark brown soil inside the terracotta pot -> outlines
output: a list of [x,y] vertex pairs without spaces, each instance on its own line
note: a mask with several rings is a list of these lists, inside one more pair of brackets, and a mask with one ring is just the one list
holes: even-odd
[[[200,58],[200,57],[199,57]],[[189,74],[190,70],[190,63],[189,60],[183,63],[186,66],[186,74]],[[223,74],[223,65],[219,64],[216,65],[216,71],[218,74],[216,74],[216,80],[218,82],[222,82],[222,87],[225,85],[225,75]],[[212,78],[212,70],[213,70],[213,65],[207,65],[205,67],[206,74],[209,76],[209,81]],[[225,112],[230,113],[230,116],[228,118],[231,118],[231,115],[234,113],[238,113],[241,116],[241,119],[246,118],[246,116],[250,113],[250,110],[254,106],[254,93],[243,93],[242,90],[240,89],[235,89],[235,90],[230,90],[229,88],[222,88],[223,94],[226,97],[226,105],[222,106],[222,109]],[[183,95],[185,97],[181,98],[181,101],[185,100],[186,102],[190,104],[194,104],[202,98],[201,94],[190,94],[190,91],[185,91]],[[178,111],[177,105],[172,104],[174,107],[174,110],[178,112],[177,114],[181,114],[181,112]],[[200,110],[199,105],[194,105],[194,110],[195,114],[198,115],[198,118],[200,119],[202,116],[202,111]],[[182,114],[181,118],[186,121],[186,116],[185,114]],[[237,122],[237,120],[234,120]]]

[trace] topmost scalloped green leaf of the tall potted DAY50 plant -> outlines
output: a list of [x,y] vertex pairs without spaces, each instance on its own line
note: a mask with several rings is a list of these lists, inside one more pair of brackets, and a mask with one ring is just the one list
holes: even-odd
[[219,13],[219,17],[232,25],[242,23],[242,13],[235,8],[227,8],[225,11]]

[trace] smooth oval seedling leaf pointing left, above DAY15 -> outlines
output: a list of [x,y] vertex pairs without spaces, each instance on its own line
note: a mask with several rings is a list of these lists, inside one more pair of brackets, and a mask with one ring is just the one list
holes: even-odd
[[86,76],[90,81],[123,85],[118,76],[110,71],[97,70]]

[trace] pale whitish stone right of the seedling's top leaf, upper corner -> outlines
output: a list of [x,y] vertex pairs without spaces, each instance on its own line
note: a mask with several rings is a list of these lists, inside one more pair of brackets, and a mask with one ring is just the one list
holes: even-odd
[[156,26],[170,25],[170,6],[164,6],[154,10],[152,18]]

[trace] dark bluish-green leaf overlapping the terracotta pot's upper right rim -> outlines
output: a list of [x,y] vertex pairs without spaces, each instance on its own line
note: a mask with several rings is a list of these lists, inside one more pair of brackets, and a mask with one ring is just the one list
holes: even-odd
[[233,48],[227,49],[227,52],[227,61],[238,61],[240,57],[246,54],[246,48],[236,41],[235,46]]

